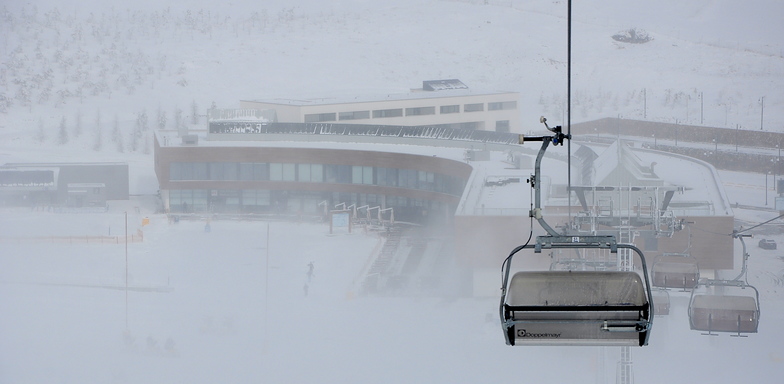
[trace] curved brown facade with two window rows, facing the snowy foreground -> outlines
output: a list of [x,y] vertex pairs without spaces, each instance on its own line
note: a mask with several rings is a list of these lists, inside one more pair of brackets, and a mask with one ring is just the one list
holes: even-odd
[[402,221],[448,220],[472,170],[463,161],[377,146],[235,137],[178,143],[156,136],[167,212],[320,215],[342,203],[392,208]]

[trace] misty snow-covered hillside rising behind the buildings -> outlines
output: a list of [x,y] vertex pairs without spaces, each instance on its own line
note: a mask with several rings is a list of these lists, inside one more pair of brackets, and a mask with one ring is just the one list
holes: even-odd
[[[612,0],[572,12],[573,122],[784,130],[784,3]],[[611,38],[629,29],[652,40]],[[0,34],[0,162],[54,160],[37,153],[52,147],[148,157],[150,130],[204,124],[213,105],[438,78],[521,92],[531,126],[565,117],[564,0],[39,0],[2,5]],[[17,159],[20,147],[31,152]]]

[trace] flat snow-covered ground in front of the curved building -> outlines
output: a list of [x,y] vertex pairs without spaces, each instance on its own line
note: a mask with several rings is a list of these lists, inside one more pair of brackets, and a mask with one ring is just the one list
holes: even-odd
[[[214,221],[205,233],[204,222],[168,223],[143,203],[138,213],[129,204],[100,214],[0,215],[0,382],[614,381],[618,348],[504,345],[496,297],[357,295],[357,277],[379,241],[373,235],[235,221]],[[131,232],[150,219],[144,241],[128,245],[129,285],[172,288],[128,292],[127,312],[125,291],[111,288],[124,284],[124,242],[8,240],[122,235],[125,210]],[[784,242],[780,231],[767,237]],[[755,241],[749,250],[759,333],[690,331],[688,293],[672,291],[671,313],[655,319],[650,345],[632,350],[635,382],[779,382],[784,260]],[[315,276],[307,284],[309,262]],[[148,348],[148,337],[156,347]],[[165,350],[169,338],[174,352]]]

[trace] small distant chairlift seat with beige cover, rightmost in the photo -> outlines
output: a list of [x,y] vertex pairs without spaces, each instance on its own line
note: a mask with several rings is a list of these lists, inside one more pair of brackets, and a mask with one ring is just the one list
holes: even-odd
[[[751,288],[757,292],[754,287]],[[692,294],[689,303],[691,329],[708,334],[756,333],[759,314],[759,300],[751,296]]]

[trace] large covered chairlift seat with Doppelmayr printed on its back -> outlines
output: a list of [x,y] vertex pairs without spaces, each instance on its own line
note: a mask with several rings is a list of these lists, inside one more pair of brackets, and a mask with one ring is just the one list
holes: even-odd
[[503,305],[507,343],[645,345],[648,293],[635,272],[517,272]]

